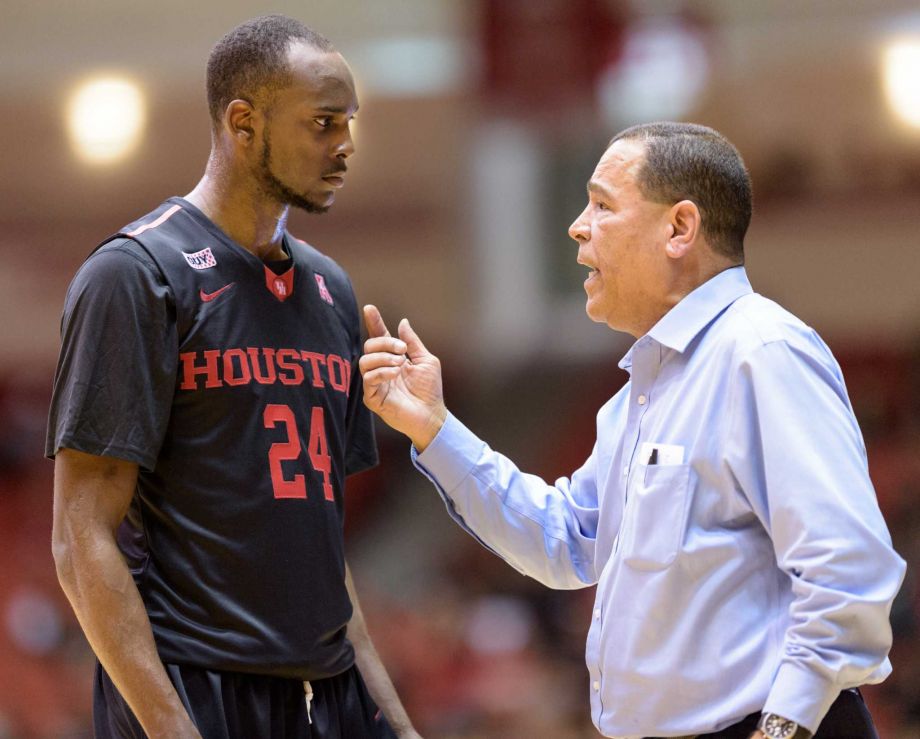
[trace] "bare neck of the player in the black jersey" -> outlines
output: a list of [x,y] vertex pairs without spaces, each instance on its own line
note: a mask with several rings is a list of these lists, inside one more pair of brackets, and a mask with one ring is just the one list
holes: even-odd
[[185,199],[263,262],[285,258],[281,243],[289,206],[254,195],[210,172]]

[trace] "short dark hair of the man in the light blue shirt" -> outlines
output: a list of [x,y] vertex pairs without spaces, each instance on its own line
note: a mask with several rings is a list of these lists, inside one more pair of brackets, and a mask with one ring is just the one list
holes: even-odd
[[639,171],[642,195],[656,203],[692,200],[712,249],[744,261],[744,235],[751,223],[751,176],[738,150],[718,131],[694,123],[643,123],[621,131],[621,139],[645,145]]

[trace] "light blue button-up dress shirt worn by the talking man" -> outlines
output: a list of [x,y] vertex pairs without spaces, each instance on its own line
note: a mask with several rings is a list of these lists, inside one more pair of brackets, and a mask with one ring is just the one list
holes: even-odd
[[814,731],[842,689],[891,672],[905,570],[837,362],[735,267],[620,367],[630,380],[571,478],[521,472],[453,416],[415,463],[520,572],[597,584],[585,656],[603,734],[713,732],[761,710]]

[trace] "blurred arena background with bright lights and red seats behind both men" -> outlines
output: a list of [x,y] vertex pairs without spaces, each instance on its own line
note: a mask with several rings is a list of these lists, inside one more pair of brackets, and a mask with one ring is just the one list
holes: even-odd
[[[628,337],[584,315],[566,229],[606,141],[691,120],[753,176],[748,271],[824,336],[908,559],[882,737],[920,736],[920,10],[895,0],[7,0],[0,9],[0,737],[89,736],[92,657],[50,555],[42,458],[64,292],[207,158],[205,60],[253,15],[332,39],[359,84],[332,211],[291,230],[411,317],[450,407],[547,479],[590,452]],[[450,523],[378,429],[350,481],[371,631],[430,737],[597,737],[593,589],[551,592]]]

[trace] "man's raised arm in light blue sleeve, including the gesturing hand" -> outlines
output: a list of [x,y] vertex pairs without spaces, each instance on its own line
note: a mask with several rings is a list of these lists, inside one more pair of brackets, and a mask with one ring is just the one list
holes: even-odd
[[[407,319],[399,323],[399,338],[390,335],[376,307],[365,306],[364,319],[370,336],[359,360],[364,402],[411,439],[416,465],[439,489],[453,519],[517,570],[549,587],[582,588],[595,583],[598,511],[590,475],[582,472],[573,476],[573,482],[586,483],[575,500],[568,480],[560,480],[554,487],[519,472],[509,459],[489,449],[448,412],[441,363],[425,348]],[[457,443],[462,447],[460,454],[455,454]],[[502,485],[508,485],[509,497],[481,497],[476,483],[464,484],[470,482],[469,473],[477,463],[483,464],[484,473],[494,474]],[[529,509],[530,500],[541,499],[541,511],[523,517],[504,515],[509,500],[517,496],[522,510]],[[560,526],[566,533],[557,536],[553,532]]]

